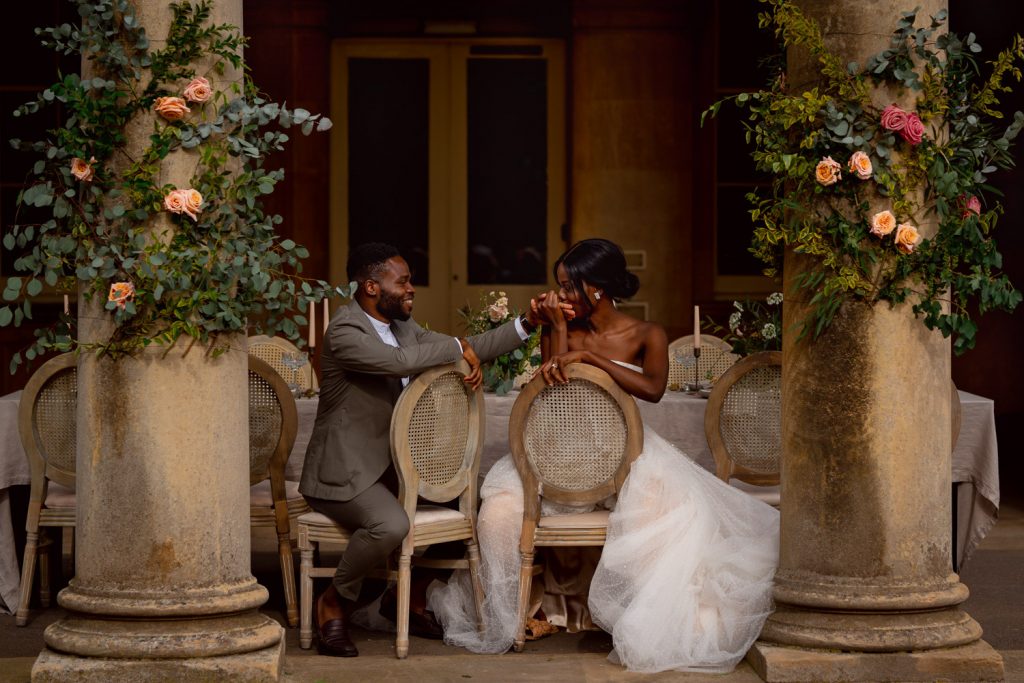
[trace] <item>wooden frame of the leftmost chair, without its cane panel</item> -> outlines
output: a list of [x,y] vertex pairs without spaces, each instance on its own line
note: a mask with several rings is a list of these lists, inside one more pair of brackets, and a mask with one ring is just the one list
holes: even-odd
[[61,353],[50,358],[29,378],[18,404],[17,429],[22,445],[29,458],[32,479],[29,493],[29,511],[25,523],[25,559],[22,563],[20,596],[14,617],[17,626],[25,626],[29,623],[29,601],[32,597],[37,557],[39,558],[40,602],[44,607],[48,607],[50,603],[48,555],[45,552],[39,552],[49,544],[45,540],[41,540],[40,527],[62,527],[65,569],[70,573],[74,566],[76,508],[48,508],[45,504],[51,480],[74,490],[75,471],[57,467],[50,462],[48,454],[44,453],[45,446],[40,438],[39,425],[36,422],[36,401],[41,391],[55,377],[66,373],[77,376],[77,372],[78,357],[75,353]]

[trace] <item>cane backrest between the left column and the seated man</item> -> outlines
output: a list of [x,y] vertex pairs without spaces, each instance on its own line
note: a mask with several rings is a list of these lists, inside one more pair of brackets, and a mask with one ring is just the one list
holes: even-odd
[[[249,356],[249,483],[280,479],[284,497],[285,466],[295,444],[298,411],[288,384],[268,364]],[[280,474],[280,476],[278,476]],[[273,497],[279,498],[273,490]],[[283,499],[282,499],[283,500]]]

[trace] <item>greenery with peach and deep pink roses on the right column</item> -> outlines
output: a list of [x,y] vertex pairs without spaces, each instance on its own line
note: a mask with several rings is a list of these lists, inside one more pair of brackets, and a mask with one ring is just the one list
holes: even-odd
[[[792,91],[780,73],[727,98],[749,112],[754,160],[773,178],[770,193],[748,196],[752,251],[769,275],[786,248],[808,264],[797,278],[810,303],[799,334],[820,335],[844,301],[909,302],[930,329],[954,336],[956,353],[972,348],[972,305],[1010,311],[1021,301],[1000,271],[992,233],[1002,209],[988,178],[1013,166],[1024,126],[1020,112],[1008,122],[997,109],[1008,80],[1021,78],[1024,40],[982,66],[974,34],[946,32],[944,10],[922,27],[909,11],[887,49],[844,65],[796,3],[764,1],[761,27],[820,63],[806,90]],[[894,101],[877,105],[872,87]]]

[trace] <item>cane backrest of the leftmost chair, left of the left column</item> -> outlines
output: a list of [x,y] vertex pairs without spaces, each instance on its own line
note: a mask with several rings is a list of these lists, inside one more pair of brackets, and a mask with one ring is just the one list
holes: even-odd
[[75,487],[78,357],[61,353],[29,378],[17,411],[17,430],[29,458],[32,496],[45,499],[46,479]]

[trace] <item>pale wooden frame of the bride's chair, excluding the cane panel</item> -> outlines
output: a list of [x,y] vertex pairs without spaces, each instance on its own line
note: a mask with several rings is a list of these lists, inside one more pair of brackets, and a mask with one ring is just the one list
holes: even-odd
[[513,648],[517,652],[522,651],[526,641],[526,609],[532,578],[542,569],[541,565],[534,563],[536,548],[539,546],[603,546],[607,535],[606,522],[571,524],[566,523],[565,519],[561,519],[571,517],[571,515],[560,515],[560,523],[557,526],[545,527],[541,517],[541,499],[546,498],[564,505],[599,503],[618,493],[629,474],[630,467],[643,451],[643,421],[633,396],[615,384],[607,373],[593,366],[572,364],[566,367],[565,374],[569,382],[582,381],[597,385],[618,404],[626,421],[626,443],[622,460],[612,476],[591,488],[568,490],[547,481],[544,474],[530,462],[524,435],[534,400],[548,385],[543,377],[536,377],[519,392],[509,418],[509,445],[523,486],[523,520],[519,541],[518,624],[513,642]]

